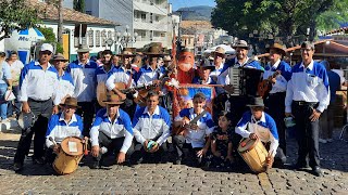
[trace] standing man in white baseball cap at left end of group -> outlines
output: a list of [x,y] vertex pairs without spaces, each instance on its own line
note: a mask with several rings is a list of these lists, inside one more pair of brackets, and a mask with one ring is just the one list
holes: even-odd
[[[53,47],[49,43],[44,43],[40,48],[39,60],[24,66],[20,78],[20,94],[18,100],[22,102],[23,113],[33,113],[37,120],[28,130],[22,131],[22,136],[14,156],[15,171],[23,168],[25,155],[28,154],[34,138],[34,156],[33,160],[36,164],[45,164],[42,156],[45,155],[45,134],[48,125],[48,119],[52,113],[58,113],[60,104],[60,95],[57,94],[58,72],[49,61],[53,54]],[[52,98],[54,96],[54,100]],[[53,106],[54,105],[54,106]]]

